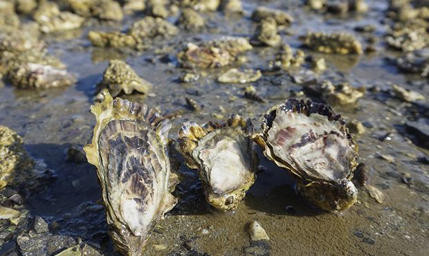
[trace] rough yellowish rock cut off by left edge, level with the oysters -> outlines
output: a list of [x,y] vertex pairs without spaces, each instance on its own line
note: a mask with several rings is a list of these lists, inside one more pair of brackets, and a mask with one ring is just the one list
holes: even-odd
[[0,189],[19,184],[33,170],[33,160],[15,131],[0,125]]

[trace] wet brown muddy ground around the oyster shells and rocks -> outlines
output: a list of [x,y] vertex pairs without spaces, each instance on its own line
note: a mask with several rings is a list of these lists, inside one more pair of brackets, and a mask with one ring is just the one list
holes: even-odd
[[[317,75],[318,80],[347,81],[352,86],[367,88],[357,104],[334,109],[346,120],[355,118],[365,125],[365,134],[355,135],[359,159],[369,167],[368,184],[378,188],[385,200],[378,203],[366,188],[358,188],[358,203],[346,212],[321,212],[300,198],[295,193],[295,181],[257,149],[261,165],[257,181],[237,210],[220,213],[205,202],[194,171],[182,164],[180,172],[185,179],[176,188],[179,203],[152,232],[145,255],[244,255],[252,246],[246,228],[255,220],[270,237],[268,246],[262,246],[266,255],[426,255],[428,150],[405,131],[404,123],[416,114],[416,107],[383,90],[394,83],[429,98],[428,79],[400,73],[389,61],[399,53],[387,48],[383,41],[387,1],[367,1],[368,12],[346,17],[312,12],[300,1],[243,2],[244,16],[206,13],[209,29],[202,33],[181,31],[171,39],[155,40],[151,48],[141,53],[91,46],[88,31],[111,30],[111,24],[46,35],[49,53],[60,57],[69,71],[77,75],[78,82],[48,90],[16,89],[8,83],[0,86],[0,124],[23,136],[29,154],[43,161],[54,174],[51,181],[26,199],[30,214],[45,219],[53,233],[81,237],[94,248],[100,248],[101,253],[113,255],[104,210],[95,207],[100,203],[95,167],[66,161],[66,149],[71,145],[81,149],[92,136],[95,119],[89,107],[93,104],[93,90],[111,58],[125,60],[138,75],[154,84],[153,95],[122,98],[158,107],[163,112],[183,110],[181,116],[172,120],[172,138],[176,138],[176,131],[185,120],[206,122],[213,119],[213,113],[229,116],[236,112],[248,116],[259,129],[262,113],[269,107],[300,95],[296,92],[302,87],[296,77],[306,77],[305,73],[299,73],[309,70],[305,66],[289,73],[264,73],[262,79],[254,82],[253,86],[267,103],[244,98],[243,88],[247,84],[216,82],[221,71],[228,68],[204,70],[206,77],[197,82],[179,82],[186,71],[177,67],[176,53],[185,42],[216,35],[250,37],[256,28],[250,14],[256,6],[264,5],[287,10],[295,18],[292,26],[281,33],[283,42],[294,49],[301,44],[300,35],[314,30],[347,31],[366,46],[366,35],[354,28],[367,24],[376,27],[372,33],[378,39],[374,53],[325,55],[304,51],[324,57],[327,62],[327,71]],[[136,17],[127,16],[113,27],[125,28]],[[276,48],[257,47],[245,54],[247,62],[241,66],[264,69],[277,52]],[[185,97],[201,104],[201,111],[188,110]],[[0,254],[15,250],[18,248],[11,239],[3,244]]]

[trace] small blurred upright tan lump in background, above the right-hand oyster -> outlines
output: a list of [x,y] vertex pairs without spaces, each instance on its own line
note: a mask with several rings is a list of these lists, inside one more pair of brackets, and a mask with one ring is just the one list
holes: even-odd
[[256,33],[250,42],[253,45],[280,46],[282,37],[278,34],[277,22],[272,17],[260,21]]

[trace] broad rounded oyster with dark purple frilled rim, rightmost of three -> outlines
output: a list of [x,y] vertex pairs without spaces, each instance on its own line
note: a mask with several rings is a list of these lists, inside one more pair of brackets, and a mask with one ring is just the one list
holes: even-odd
[[253,139],[264,155],[298,181],[298,192],[316,207],[346,210],[357,199],[352,181],[358,145],[327,104],[287,100],[264,116]]

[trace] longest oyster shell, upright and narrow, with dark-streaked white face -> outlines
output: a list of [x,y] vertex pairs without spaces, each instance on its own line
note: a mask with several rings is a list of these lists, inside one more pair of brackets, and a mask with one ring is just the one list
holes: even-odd
[[91,107],[97,123],[84,147],[97,167],[111,238],[120,253],[142,255],[149,232],[176,205],[170,192],[179,179],[170,172],[170,125],[154,109],[116,98],[107,90]]

